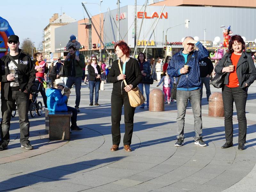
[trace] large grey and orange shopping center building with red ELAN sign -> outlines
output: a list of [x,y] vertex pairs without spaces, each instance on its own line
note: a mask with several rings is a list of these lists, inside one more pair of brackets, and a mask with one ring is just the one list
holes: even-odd
[[[145,7],[137,5],[135,13],[135,6],[127,5],[120,7],[119,11],[119,39],[127,42],[132,52],[134,51],[134,18],[136,15],[137,53],[142,52],[146,44],[148,44],[145,50],[148,58],[163,58],[166,42],[168,42],[167,54],[178,52],[182,48],[181,39],[186,36],[197,36],[202,43],[205,42],[205,46],[209,50],[214,50],[216,48],[216,45],[213,45],[214,38],[216,36],[220,37],[220,42],[217,42],[220,45],[223,41],[222,31],[228,26],[231,26],[233,34],[244,36],[247,41],[246,45],[250,46],[249,49],[255,51],[255,7],[256,1],[249,0],[232,2],[220,0],[215,0],[214,2],[205,0],[177,0],[174,2],[172,0],[165,0],[148,5],[145,13]],[[163,12],[161,13],[162,9]],[[159,20],[158,17],[160,17]],[[156,25],[157,20],[158,23]],[[185,28],[185,20],[189,20],[188,28]],[[100,15],[93,16],[92,22],[100,33]],[[108,51],[114,50],[114,42],[118,40],[116,27],[117,9],[111,10],[110,15],[108,12],[102,13],[101,23],[102,41]],[[154,29],[155,26],[156,28]],[[67,54],[65,53],[65,46],[71,34],[77,35],[77,40],[82,45],[80,49],[82,54],[85,56],[99,54],[99,37],[89,19],[83,19],[55,29],[55,53],[58,53],[59,57]],[[149,39],[151,34],[152,36]],[[165,35],[167,37],[166,41]],[[168,52],[171,47],[172,52]],[[107,55],[103,45],[101,49],[102,57],[106,59]]]

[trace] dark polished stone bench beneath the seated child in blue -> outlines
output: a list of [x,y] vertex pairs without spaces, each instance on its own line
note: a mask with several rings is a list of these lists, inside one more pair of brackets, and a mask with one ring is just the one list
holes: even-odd
[[71,111],[54,112],[44,108],[45,130],[49,132],[50,140],[70,139],[70,118]]

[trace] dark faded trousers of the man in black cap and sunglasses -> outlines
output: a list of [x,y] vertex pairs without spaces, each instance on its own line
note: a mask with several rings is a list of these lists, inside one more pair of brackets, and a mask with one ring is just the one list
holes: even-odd
[[1,141],[5,142],[7,145],[10,142],[10,121],[13,106],[17,104],[19,110],[19,120],[20,120],[20,143],[24,145],[29,143],[29,121],[28,121],[28,101],[29,93],[20,91],[11,91],[8,96],[8,100],[1,100],[1,111],[2,111],[2,121],[0,125]]

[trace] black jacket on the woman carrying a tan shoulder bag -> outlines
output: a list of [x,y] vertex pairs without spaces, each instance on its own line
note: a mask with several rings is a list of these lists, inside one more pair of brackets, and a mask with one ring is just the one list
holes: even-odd
[[[120,60],[121,68],[123,69],[123,62]],[[117,76],[121,74],[118,60],[113,62],[111,69],[108,73],[108,82],[113,83],[113,91],[112,93],[124,94],[127,93],[124,91],[124,82],[123,80],[118,80]],[[142,80],[142,74],[140,72],[140,65],[136,59],[130,57],[130,59],[126,62],[125,65],[125,75],[126,75],[126,83],[132,84],[133,88],[137,87],[137,85]]]

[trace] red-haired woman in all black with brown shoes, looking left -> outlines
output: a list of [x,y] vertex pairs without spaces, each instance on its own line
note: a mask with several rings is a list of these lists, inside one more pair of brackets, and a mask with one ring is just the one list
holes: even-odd
[[[113,90],[111,94],[111,132],[113,146],[111,151],[118,150],[121,134],[120,134],[120,121],[122,115],[122,107],[124,105],[124,150],[132,151],[130,148],[132,142],[133,132],[133,116],[135,108],[131,106],[128,92],[142,80],[140,72],[140,65],[136,59],[129,57],[130,48],[124,41],[120,41],[115,45],[115,52],[120,58],[120,65],[123,75],[120,72],[118,60],[115,60],[111,66],[108,74],[108,82],[113,83]],[[123,80],[126,80],[127,86],[124,85]]]

